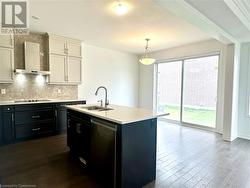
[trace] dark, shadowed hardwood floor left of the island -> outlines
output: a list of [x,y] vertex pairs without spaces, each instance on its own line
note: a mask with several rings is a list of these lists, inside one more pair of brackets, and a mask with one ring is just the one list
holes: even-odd
[[1,147],[0,184],[43,188],[101,187],[78,161],[71,159],[66,135]]

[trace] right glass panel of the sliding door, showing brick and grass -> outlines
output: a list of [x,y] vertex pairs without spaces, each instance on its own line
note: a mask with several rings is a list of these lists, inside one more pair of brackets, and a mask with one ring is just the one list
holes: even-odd
[[215,128],[219,56],[184,60],[182,122]]

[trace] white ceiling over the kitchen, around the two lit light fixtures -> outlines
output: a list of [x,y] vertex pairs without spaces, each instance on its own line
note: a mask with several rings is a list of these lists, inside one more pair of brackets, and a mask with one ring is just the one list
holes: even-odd
[[162,9],[154,0],[126,0],[130,11],[115,15],[112,0],[30,0],[32,31],[79,38],[105,48],[144,52],[149,37],[152,51],[211,38],[195,26]]

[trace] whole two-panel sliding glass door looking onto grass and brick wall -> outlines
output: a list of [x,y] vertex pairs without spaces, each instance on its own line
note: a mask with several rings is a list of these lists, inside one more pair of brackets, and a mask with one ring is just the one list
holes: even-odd
[[219,55],[158,64],[157,109],[181,123],[215,128]]

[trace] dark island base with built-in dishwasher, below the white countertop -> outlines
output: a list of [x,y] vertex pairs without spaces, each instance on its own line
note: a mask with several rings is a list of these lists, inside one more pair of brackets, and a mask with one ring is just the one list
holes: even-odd
[[68,146],[104,187],[141,188],[156,177],[157,120],[115,124],[68,111]]

